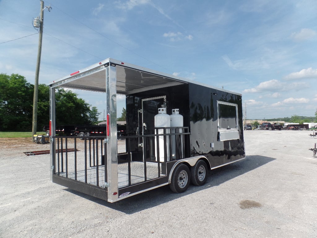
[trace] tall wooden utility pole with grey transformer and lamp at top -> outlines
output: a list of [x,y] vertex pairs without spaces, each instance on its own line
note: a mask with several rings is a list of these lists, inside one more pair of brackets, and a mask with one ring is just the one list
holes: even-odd
[[39,73],[40,73],[40,63],[41,63],[41,53],[42,53],[42,38],[43,38],[43,23],[44,23],[44,9],[48,8],[50,11],[52,8],[50,6],[44,7],[44,2],[41,1],[41,11],[40,17],[37,17],[33,21],[33,26],[39,29],[39,45],[37,50],[37,61],[35,70],[35,82],[34,82],[34,95],[33,95],[33,117],[32,117],[32,141],[33,135],[36,134],[36,120],[37,120],[37,95],[39,86]]

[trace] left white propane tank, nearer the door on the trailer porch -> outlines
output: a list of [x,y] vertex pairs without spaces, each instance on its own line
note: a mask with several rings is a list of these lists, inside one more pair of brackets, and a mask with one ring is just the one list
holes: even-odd
[[[159,114],[154,116],[154,127],[171,127],[170,115],[166,114],[166,108],[159,108]],[[158,134],[164,134],[164,129],[157,129]],[[170,133],[170,129],[166,129],[166,133]],[[166,137],[166,153],[167,161],[170,161],[170,143],[168,136]],[[157,143],[155,136],[155,157],[156,161],[164,162],[164,136],[159,136],[159,156],[157,155]]]

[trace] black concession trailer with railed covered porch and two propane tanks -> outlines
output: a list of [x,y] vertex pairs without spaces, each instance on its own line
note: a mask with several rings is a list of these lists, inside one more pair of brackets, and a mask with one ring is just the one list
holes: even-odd
[[[165,185],[181,193],[203,185],[210,169],[245,157],[239,93],[111,58],[49,87],[51,179],[81,193],[108,202]],[[58,87],[103,93],[105,136],[55,135]],[[124,136],[117,95],[126,96]]]

